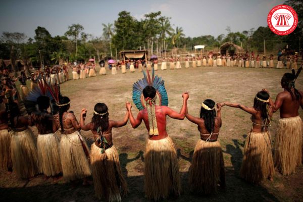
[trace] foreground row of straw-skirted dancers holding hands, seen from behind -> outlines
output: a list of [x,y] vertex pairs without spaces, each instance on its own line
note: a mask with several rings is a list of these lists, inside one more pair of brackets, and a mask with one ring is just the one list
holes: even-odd
[[[256,94],[252,107],[229,102],[216,104],[212,99],[206,99],[197,109],[200,116],[194,117],[187,110],[187,92],[182,94],[180,112],[176,112],[167,106],[156,105],[156,89],[146,86],[142,94],[147,108],[139,111],[136,118],[129,102],[125,104],[126,113],[120,121],[110,120],[110,109],[104,103],[97,103],[94,109],[89,110],[93,113],[89,123],[85,123],[86,109],[81,110],[78,122],[74,113],[69,111],[71,100],[54,89],[49,89],[54,99],[40,95],[36,100],[37,109],[29,116],[23,116],[21,104],[16,102],[18,98],[12,99],[12,81],[7,78],[8,75],[4,75],[2,88],[5,89],[5,96],[2,97],[0,111],[0,164],[2,169],[13,171],[22,179],[39,173],[55,179],[62,174],[66,182],[83,179],[83,184],[87,184],[87,178],[92,175],[97,198],[121,201],[128,189],[118,151],[113,144],[112,129],[123,127],[128,121],[136,128],[143,121],[148,132],[144,154],[145,195],[155,200],[178,196],[181,193],[178,159],[174,143],[166,132],[166,117],[179,120],[186,117],[198,125],[200,134],[189,168],[190,190],[199,194],[214,194],[219,188],[225,187],[224,159],[218,136],[222,125],[221,111],[228,106],[251,115],[252,128],[245,141],[240,176],[255,184],[265,179],[273,180],[275,168],[281,174],[289,175],[302,163],[303,123],[298,110],[299,107],[303,108],[303,92],[294,87],[299,71],[283,75],[281,87],[284,91],[278,93],[275,102],[267,89]],[[47,111],[51,104],[57,109],[54,113]],[[279,109],[281,119],[272,155],[268,127],[273,113]],[[28,127],[33,125],[38,131],[36,144],[34,134]],[[156,129],[157,133],[154,133]],[[61,133],[60,141],[55,135],[58,130]],[[91,131],[94,143],[90,150],[80,130]]]

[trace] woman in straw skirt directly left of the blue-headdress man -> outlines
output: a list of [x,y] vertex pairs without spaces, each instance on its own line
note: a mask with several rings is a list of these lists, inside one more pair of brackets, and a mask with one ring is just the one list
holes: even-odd
[[86,109],[82,109],[81,129],[90,130],[95,139],[90,150],[95,194],[98,199],[104,197],[106,201],[121,201],[121,197],[127,193],[127,184],[122,175],[118,151],[113,145],[112,128],[125,126],[129,112],[126,111],[123,121],[112,121],[109,120],[108,107],[104,103],[97,103],[91,122],[87,125],[84,123],[85,117]]

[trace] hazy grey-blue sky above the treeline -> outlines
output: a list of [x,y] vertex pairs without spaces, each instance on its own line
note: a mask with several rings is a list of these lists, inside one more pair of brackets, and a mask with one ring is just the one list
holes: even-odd
[[226,34],[267,26],[267,15],[280,0],[0,0],[0,34],[22,32],[34,37],[37,26],[52,36],[64,35],[71,24],[84,32],[102,35],[102,23],[114,23],[121,11],[137,20],[144,14],[161,11],[171,18],[173,28],[182,27],[186,36]]

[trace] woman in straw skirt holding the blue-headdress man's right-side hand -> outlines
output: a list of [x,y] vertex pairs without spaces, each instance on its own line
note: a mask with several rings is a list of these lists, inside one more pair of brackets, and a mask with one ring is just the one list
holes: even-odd
[[215,102],[206,99],[200,109],[200,118],[186,112],[186,118],[198,125],[200,139],[195,145],[189,168],[190,190],[200,194],[217,193],[218,184],[225,187],[224,159],[218,141],[222,125],[221,108],[216,115]]

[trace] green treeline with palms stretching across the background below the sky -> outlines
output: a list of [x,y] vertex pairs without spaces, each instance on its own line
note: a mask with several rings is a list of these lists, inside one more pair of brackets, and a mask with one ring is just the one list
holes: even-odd
[[170,18],[162,16],[161,12],[148,13],[144,19],[137,20],[129,12],[122,11],[113,24],[103,24],[102,37],[85,33],[80,24],[69,26],[63,36],[52,36],[44,27],[35,29],[34,38],[27,38],[24,33],[3,32],[0,59],[27,60],[38,67],[63,61],[87,61],[92,57],[96,60],[116,58],[120,51],[127,49],[148,49],[150,55],[159,55],[176,48],[190,52],[194,45],[206,45],[206,50],[211,51],[224,42],[258,53],[264,51],[264,43],[267,52],[277,52],[286,45],[298,52],[300,39],[303,39],[303,3],[295,0],[285,4],[294,8],[299,17],[298,27],[287,36],[276,35],[268,27],[232,32],[227,26],[226,35],[186,37],[182,27],[173,28]]

